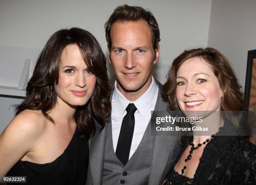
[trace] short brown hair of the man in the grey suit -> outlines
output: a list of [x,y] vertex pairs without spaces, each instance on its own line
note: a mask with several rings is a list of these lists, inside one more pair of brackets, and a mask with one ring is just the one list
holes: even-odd
[[106,41],[108,43],[108,47],[111,49],[111,38],[110,31],[113,24],[116,21],[138,21],[145,20],[148,23],[148,26],[152,33],[152,43],[153,48],[159,48],[160,41],[160,31],[159,26],[156,22],[154,15],[149,11],[145,10],[139,6],[128,6],[128,5],[120,5],[113,13],[110,15],[110,18],[105,23],[105,32],[106,32]]

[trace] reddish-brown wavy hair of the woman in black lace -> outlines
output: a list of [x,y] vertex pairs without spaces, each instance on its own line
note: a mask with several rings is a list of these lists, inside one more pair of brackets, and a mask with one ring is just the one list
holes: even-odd
[[221,111],[243,111],[245,101],[241,93],[241,85],[231,68],[227,58],[214,48],[195,48],[184,51],[174,59],[167,75],[167,81],[163,86],[163,95],[169,103],[169,110],[178,111],[179,105],[176,99],[177,71],[182,63],[190,58],[200,57],[212,66],[220,88],[223,91]]

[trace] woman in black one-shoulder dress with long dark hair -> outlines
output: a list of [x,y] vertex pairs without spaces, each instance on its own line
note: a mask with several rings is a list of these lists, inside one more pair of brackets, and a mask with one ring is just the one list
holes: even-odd
[[0,134],[0,177],[28,184],[85,184],[89,145],[110,112],[105,56],[80,28],[54,33],[40,53],[25,100]]

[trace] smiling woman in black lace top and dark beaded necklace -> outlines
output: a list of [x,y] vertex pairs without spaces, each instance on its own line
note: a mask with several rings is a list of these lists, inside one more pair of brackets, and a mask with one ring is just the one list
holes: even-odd
[[192,136],[183,137],[163,185],[256,183],[256,146],[234,135],[234,120],[228,116],[244,110],[240,89],[227,59],[214,48],[191,49],[174,59],[163,86],[169,109],[201,116],[200,126],[210,126],[212,134],[192,129]]

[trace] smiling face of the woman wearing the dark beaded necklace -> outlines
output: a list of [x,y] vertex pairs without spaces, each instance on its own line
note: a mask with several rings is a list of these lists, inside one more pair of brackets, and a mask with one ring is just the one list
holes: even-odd
[[176,98],[182,111],[220,111],[223,91],[212,66],[204,59],[184,61],[176,82]]

